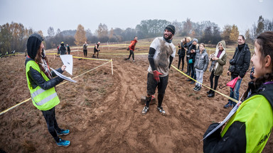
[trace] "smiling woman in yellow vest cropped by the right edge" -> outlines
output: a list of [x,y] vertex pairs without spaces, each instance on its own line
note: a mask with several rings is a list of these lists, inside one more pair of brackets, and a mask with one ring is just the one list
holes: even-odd
[[[257,37],[251,61],[255,79],[248,84],[245,100],[222,132],[218,129],[204,140],[204,152],[262,152],[267,144],[273,126],[272,31]],[[205,135],[218,125],[210,125]]]

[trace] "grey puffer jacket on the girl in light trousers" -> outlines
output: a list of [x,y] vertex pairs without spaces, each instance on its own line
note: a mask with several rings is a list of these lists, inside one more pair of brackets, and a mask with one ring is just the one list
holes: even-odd
[[196,51],[196,61],[194,62],[194,68],[203,70],[205,72],[208,69],[208,53],[203,50],[200,54],[200,50]]

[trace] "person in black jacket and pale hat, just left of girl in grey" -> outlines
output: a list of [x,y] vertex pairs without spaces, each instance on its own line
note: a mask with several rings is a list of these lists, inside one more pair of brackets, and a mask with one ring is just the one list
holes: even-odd
[[[193,79],[196,79],[196,70],[194,69],[194,62],[196,61],[196,50],[198,50],[198,40],[196,38],[193,38],[193,44],[191,47],[188,47],[188,50],[191,52],[190,57],[188,58],[188,64],[191,68],[191,77]],[[193,81],[192,79],[188,79],[187,81],[191,81],[190,84],[194,84],[196,81]]]

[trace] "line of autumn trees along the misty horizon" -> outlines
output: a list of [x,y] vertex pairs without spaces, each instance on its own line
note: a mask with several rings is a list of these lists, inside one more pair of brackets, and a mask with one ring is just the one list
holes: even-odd
[[[48,28],[48,35],[43,36],[44,45],[47,49],[57,47],[60,42],[71,45],[82,45],[85,41],[88,43],[100,42],[123,42],[132,40],[135,35],[139,39],[154,38],[162,35],[163,29],[172,24],[176,27],[177,36],[191,36],[191,38],[198,38],[200,42],[216,44],[220,40],[225,40],[227,44],[236,42],[239,35],[239,30],[236,25],[225,25],[223,30],[218,24],[210,21],[201,21],[194,23],[190,18],[186,21],[166,21],[166,20],[144,20],[141,21],[136,28],[111,28],[100,23],[95,33],[90,29],[85,30],[82,25],[77,26],[77,30],[63,30],[58,29],[56,32],[53,27]],[[264,19],[259,16],[257,23],[252,25],[252,28],[245,30],[245,38],[247,41],[254,40],[259,33],[264,31],[273,31],[273,20]],[[0,50],[4,55],[6,52],[16,50],[16,52],[24,52],[26,50],[26,42],[32,33],[39,33],[43,35],[41,30],[34,31],[32,28],[28,29],[21,23],[6,23],[0,26]]]

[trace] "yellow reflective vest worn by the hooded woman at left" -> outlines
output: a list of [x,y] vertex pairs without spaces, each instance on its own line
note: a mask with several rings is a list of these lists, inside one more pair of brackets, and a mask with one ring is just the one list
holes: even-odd
[[36,62],[33,60],[30,60],[26,64],[26,79],[28,81],[28,89],[31,92],[31,99],[32,103],[36,108],[38,108],[41,111],[47,111],[50,110],[51,108],[55,107],[60,103],[60,99],[58,98],[58,95],[55,91],[55,88],[51,88],[48,90],[43,90],[41,89],[40,86],[37,86],[35,89],[33,89],[33,86],[31,86],[31,82],[29,81],[28,78],[28,71],[30,68],[36,69],[36,71],[40,72],[43,79],[45,81],[49,81],[48,77],[41,71],[40,67]]

